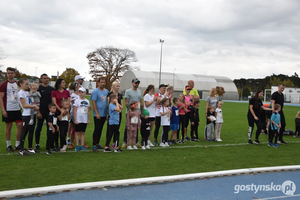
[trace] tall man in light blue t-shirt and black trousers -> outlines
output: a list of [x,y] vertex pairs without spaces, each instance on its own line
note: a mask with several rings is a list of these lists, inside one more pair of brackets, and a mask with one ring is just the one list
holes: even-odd
[[104,123],[106,121],[107,116],[107,94],[108,90],[104,88],[105,86],[105,79],[99,78],[98,79],[99,87],[92,91],[91,94],[91,101],[94,107],[94,124],[95,129],[93,133],[93,146],[97,146],[98,149],[104,149],[99,145],[99,141],[102,134],[102,129]]

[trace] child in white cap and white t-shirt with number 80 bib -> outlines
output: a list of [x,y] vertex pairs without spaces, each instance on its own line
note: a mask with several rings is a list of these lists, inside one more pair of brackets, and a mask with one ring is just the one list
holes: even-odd
[[79,99],[76,99],[73,104],[74,109],[74,124],[75,124],[75,151],[79,151],[79,134],[81,138],[81,150],[86,151],[84,147],[85,129],[86,125],[90,125],[90,102],[84,95],[86,94],[85,88],[78,89]]

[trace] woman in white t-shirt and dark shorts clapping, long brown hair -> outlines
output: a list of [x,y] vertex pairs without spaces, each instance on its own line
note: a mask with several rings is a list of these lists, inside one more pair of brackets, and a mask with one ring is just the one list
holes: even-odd
[[144,96],[144,105],[145,109],[149,111],[149,122],[151,124],[150,127],[150,136],[148,137],[148,146],[154,147],[152,142],[150,141],[152,135],[152,129],[155,124],[155,102],[157,100],[157,96],[154,96],[155,88],[154,85],[148,85],[147,89],[143,91]]

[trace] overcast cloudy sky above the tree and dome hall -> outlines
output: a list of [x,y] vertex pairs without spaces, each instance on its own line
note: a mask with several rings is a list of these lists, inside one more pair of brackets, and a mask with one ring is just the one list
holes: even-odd
[[[5,67],[35,76],[73,67],[88,52],[134,50],[141,70],[263,78],[300,69],[299,0],[1,1]],[[91,76],[87,75],[90,79]]]

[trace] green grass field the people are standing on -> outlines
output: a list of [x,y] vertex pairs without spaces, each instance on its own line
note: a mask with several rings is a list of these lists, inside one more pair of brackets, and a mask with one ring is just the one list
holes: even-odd
[[[47,155],[44,153],[46,151],[46,126],[43,127],[41,133],[40,150],[42,153],[29,154],[27,157],[21,157],[17,155],[17,152],[9,154],[6,151],[5,125],[0,122],[0,191],[93,181],[300,164],[299,138],[284,136],[284,141],[289,142],[289,144],[280,145],[280,148],[269,147],[267,144],[246,145],[248,131],[247,103],[224,102],[222,107],[224,123],[221,129],[223,142],[204,141],[204,105],[205,101],[201,101],[199,109],[200,142],[171,145],[170,148],[156,146],[149,150],[125,150],[120,154],[105,154],[101,151],[97,153],[92,151],[74,152],[74,149],[72,149],[67,150],[67,153]],[[284,106],[286,129],[295,130],[294,119],[297,111],[297,107]],[[86,143],[90,146],[89,150],[91,150],[94,130],[92,119],[91,117],[91,125],[88,126],[85,133]],[[121,139],[123,138],[124,127],[125,110],[123,111],[120,128]],[[16,126],[13,125],[12,145],[15,144],[15,131]],[[253,131],[253,140],[255,131],[256,128]],[[102,146],[104,146],[105,139],[106,124],[100,140]],[[259,136],[260,142],[267,142],[267,139],[267,135]],[[33,144],[35,145],[35,142]],[[25,147],[27,146],[26,141]],[[180,148],[184,146],[186,148]]]

